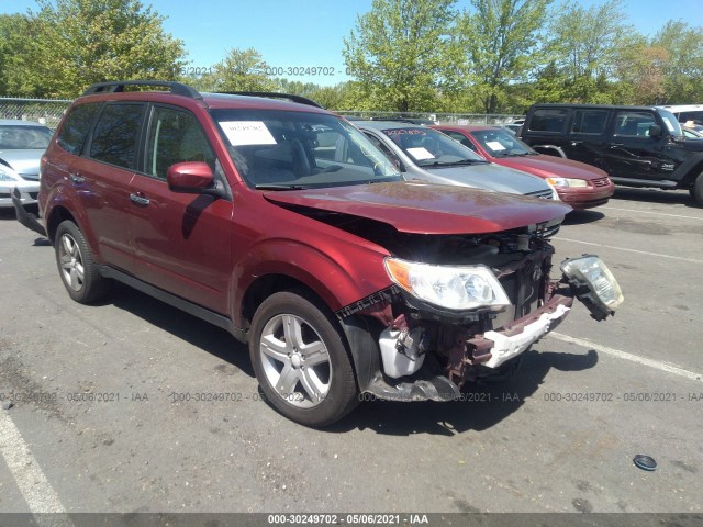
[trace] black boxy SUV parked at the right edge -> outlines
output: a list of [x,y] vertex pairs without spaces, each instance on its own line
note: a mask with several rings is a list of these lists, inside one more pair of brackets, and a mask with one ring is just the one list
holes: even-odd
[[703,143],[687,141],[663,108],[535,104],[521,137],[537,152],[601,168],[616,184],[685,189],[703,205]]

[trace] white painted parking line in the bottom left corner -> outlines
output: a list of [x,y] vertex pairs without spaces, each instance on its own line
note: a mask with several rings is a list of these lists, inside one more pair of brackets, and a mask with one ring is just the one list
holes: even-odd
[[7,412],[0,410],[0,452],[14,476],[24,501],[40,526],[72,527],[68,516],[45,515],[66,513],[58,495],[46,480],[30,447]]

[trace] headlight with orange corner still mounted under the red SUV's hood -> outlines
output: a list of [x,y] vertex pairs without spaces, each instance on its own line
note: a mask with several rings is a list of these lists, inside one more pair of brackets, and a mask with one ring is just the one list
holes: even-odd
[[389,257],[386,271],[405,291],[439,307],[502,311],[510,305],[505,290],[486,266],[433,266]]

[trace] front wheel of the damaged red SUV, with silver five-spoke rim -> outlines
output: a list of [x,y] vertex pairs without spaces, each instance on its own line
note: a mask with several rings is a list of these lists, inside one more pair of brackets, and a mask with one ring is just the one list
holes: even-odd
[[283,291],[265,300],[252,321],[249,356],[267,400],[291,421],[321,427],[358,404],[342,329],[312,295]]

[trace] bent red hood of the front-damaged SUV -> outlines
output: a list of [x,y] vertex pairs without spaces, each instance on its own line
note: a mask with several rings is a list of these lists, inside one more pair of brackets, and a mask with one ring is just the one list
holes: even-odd
[[465,187],[392,182],[267,191],[267,200],[367,217],[414,234],[482,234],[563,217],[569,205]]

